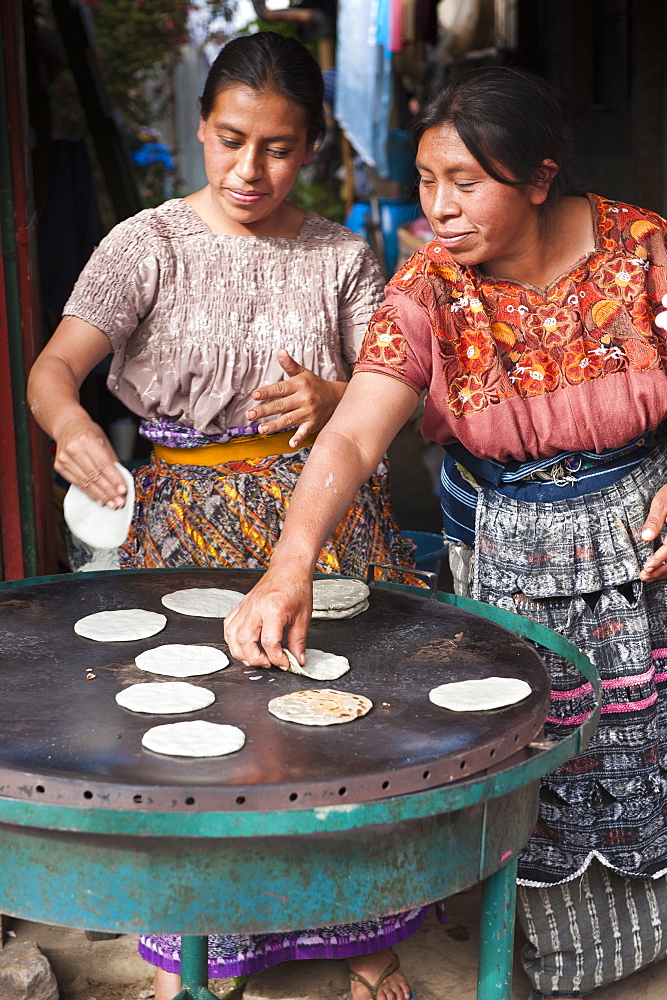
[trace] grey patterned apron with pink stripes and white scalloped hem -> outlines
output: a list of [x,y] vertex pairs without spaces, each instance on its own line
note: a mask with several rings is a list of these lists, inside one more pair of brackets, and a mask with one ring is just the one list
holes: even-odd
[[[564,635],[604,688],[585,753],[542,781],[523,885],[569,881],[595,857],[629,878],[667,871],[667,583],[638,579],[655,548],[641,528],[665,483],[661,446],[587,496],[537,504],[480,495],[473,596]],[[552,678],[546,734],[556,740],[587,718],[593,693],[574,667],[540,652]]]

